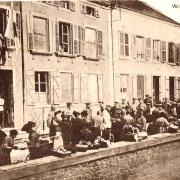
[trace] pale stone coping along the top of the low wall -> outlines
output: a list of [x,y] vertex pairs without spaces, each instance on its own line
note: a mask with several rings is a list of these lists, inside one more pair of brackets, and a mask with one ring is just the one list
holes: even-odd
[[77,152],[67,158],[58,158],[48,156],[37,160],[31,160],[19,164],[12,164],[0,167],[0,179],[18,179],[20,177],[31,176],[55,169],[65,168],[72,165],[82,164],[98,159],[127,154],[133,151],[158,146],[161,144],[180,141],[180,133],[176,134],[157,134],[149,136],[147,139],[140,142],[118,142],[113,143],[109,148],[89,150],[87,152]]

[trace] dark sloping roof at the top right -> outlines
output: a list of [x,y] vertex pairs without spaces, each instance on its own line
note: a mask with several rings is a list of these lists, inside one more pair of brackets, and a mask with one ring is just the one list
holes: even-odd
[[150,17],[154,17],[160,20],[173,23],[173,24],[180,25],[180,23],[164,15],[163,13],[156,10],[155,8],[152,8],[150,5],[146,4],[145,2],[142,2],[139,0],[118,0],[118,1],[111,0],[111,3],[117,7],[121,7],[121,8],[135,11],[135,12],[138,12],[138,13],[150,16]]

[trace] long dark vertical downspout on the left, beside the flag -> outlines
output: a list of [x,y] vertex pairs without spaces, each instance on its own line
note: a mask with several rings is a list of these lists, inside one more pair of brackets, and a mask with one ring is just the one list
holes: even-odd
[[24,69],[24,41],[23,41],[23,18],[22,18],[22,2],[19,2],[21,17],[21,58],[22,58],[22,93],[23,93],[23,122],[25,118],[25,69]]

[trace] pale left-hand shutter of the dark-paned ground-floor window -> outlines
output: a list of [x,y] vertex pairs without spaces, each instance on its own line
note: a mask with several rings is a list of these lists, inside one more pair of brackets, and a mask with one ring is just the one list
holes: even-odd
[[26,103],[29,106],[35,104],[34,71],[27,71],[26,73]]

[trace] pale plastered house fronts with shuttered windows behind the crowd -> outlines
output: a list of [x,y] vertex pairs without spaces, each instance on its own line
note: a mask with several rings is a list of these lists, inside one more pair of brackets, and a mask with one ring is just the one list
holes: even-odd
[[[51,104],[72,102],[78,110],[146,94],[154,102],[180,98],[180,26],[138,3],[14,2],[21,48],[8,40],[5,63],[1,58],[4,127],[33,120],[46,130]],[[10,11],[10,2],[0,3],[2,35]]]

